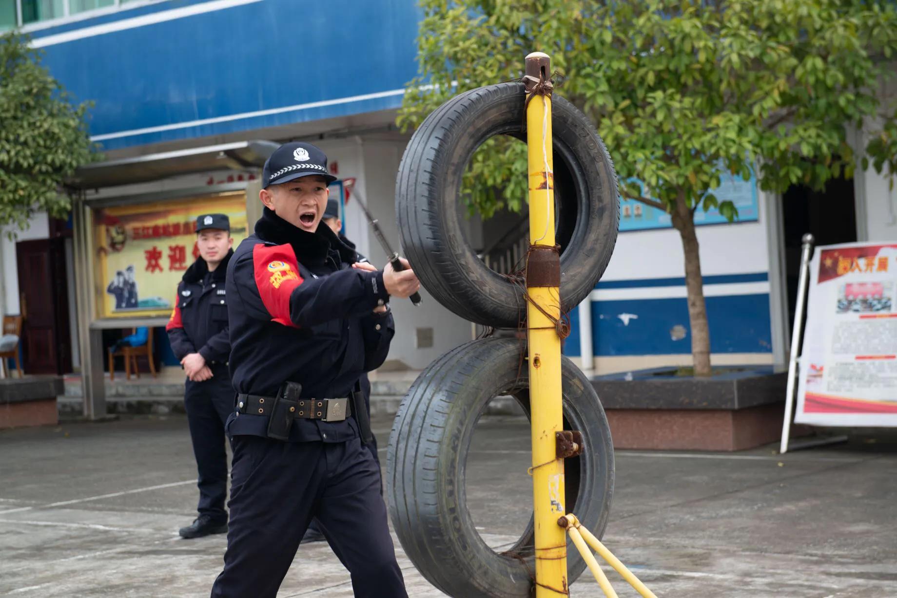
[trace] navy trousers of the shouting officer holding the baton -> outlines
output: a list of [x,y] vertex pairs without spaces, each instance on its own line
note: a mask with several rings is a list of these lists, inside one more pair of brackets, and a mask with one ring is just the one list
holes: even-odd
[[[352,574],[356,598],[406,598],[379,492],[379,467],[359,438],[233,437],[231,532],[213,598],[274,598],[313,516]],[[266,575],[248,575],[258,571]]]

